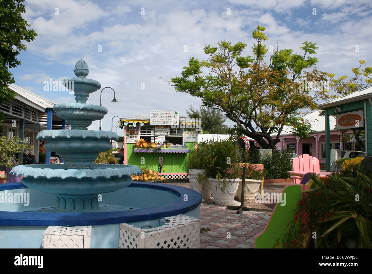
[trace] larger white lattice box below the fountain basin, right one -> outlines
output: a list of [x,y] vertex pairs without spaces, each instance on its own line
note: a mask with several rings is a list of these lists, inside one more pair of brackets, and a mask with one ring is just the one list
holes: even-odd
[[120,224],[119,248],[200,248],[200,220],[177,215],[153,229]]

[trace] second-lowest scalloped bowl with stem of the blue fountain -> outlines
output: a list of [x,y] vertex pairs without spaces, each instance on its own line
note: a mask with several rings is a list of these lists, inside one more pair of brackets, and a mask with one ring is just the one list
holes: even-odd
[[45,140],[44,148],[58,152],[69,169],[92,168],[99,152],[108,151],[110,140],[117,141],[119,136],[111,131],[99,130],[43,130],[36,137]]

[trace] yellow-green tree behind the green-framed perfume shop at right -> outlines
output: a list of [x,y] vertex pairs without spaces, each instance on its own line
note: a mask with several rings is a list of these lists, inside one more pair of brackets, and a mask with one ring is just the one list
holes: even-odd
[[[364,60],[359,61],[359,67],[355,67],[352,70],[353,76],[348,77],[347,75],[339,76],[339,78],[334,79],[335,74],[328,73],[330,78],[330,88],[335,94],[331,95],[331,98],[337,98],[342,95],[358,91],[359,89],[366,88],[372,85],[372,67],[365,67],[360,72],[360,67],[362,64],[366,63]],[[361,147],[365,147],[365,133],[363,130],[352,129],[353,134],[342,132],[344,142],[355,138]]]

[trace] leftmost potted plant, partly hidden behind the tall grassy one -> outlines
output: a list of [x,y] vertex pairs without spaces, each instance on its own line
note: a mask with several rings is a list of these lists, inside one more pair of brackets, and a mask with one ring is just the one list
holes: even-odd
[[189,176],[187,178],[190,182],[191,189],[199,192],[204,200],[211,199],[211,187],[207,181],[205,163],[207,151],[206,142],[198,144],[198,148],[192,151],[186,158],[187,167],[189,169]]

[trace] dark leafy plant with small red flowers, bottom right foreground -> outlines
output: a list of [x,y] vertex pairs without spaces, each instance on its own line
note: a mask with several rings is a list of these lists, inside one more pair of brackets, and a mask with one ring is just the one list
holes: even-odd
[[276,240],[275,247],[280,243],[284,248],[305,248],[313,237],[315,248],[371,248],[369,173],[360,163],[353,177],[336,173],[323,183],[312,176],[311,189],[304,191],[306,195],[298,202],[293,221],[283,237]]

